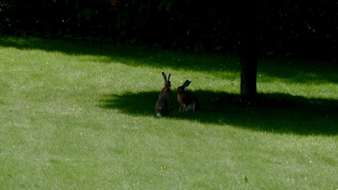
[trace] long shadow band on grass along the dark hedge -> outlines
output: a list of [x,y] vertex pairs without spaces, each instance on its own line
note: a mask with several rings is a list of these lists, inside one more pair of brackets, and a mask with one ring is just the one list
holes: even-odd
[[[130,66],[148,66],[196,71],[226,71],[238,73],[240,57],[219,53],[200,53],[193,51],[161,50],[150,47],[127,45],[103,45],[95,43],[67,42],[64,40],[46,40],[30,37],[0,38],[0,46],[17,49],[39,49],[58,51],[70,55],[94,55],[88,61],[101,63],[120,62]],[[333,60],[299,60],[287,58],[260,58],[258,73],[264,77],[285,78],[300,83],[338,83],[338,65]],[[235,79],[235,75],[227,78]]]

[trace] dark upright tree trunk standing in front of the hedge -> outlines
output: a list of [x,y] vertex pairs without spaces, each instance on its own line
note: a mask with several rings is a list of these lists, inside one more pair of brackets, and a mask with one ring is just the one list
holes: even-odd
[[242,9],[241,95],[253,97],[257,93],[258,9],[254,0],[247,2]]

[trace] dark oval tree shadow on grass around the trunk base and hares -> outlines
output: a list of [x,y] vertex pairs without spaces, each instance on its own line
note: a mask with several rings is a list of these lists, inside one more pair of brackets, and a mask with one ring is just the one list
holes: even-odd
[[[298,135],[337,135],[338,101],[307,99],[289,94],[267,94],[256,106],[241,106],[238,95],[225,92],[197,90],[201,110],[178,113],[179,104],[173,92],[174,111],[168,116],[201,123],[228,124],[236,127],[273,133]],[[121,113],[140,116],[155,116],[155,104],[159,92],[125,93],[102,95],[99,105],[117,109]],[[237,103],[236,103],[237,102]]]

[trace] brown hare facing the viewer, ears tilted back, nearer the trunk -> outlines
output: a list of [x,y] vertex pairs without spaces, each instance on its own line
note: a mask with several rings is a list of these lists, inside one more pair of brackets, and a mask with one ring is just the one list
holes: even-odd
[[177,87],[177,100],[180,103],[178,113],[189,110],[199,110],[199,102],[196,96],[193,95],[191,92],[186,92],[185,88],[189,86],[191,81],[186,80],[182,86]]

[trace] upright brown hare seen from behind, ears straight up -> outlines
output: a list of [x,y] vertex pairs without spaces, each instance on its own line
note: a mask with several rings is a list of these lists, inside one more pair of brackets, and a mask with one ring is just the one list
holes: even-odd
[[172,110],[171,106],[171,82],[170,82],[170,75],[167,76],[162,72],[162,76],[164,79],[164,87],[161,90],[161,93],[159,95],[159,99],[157,100],[156,106],[155,106],[155,112],[157,116],[167,116],[170,114],[170,111]]

